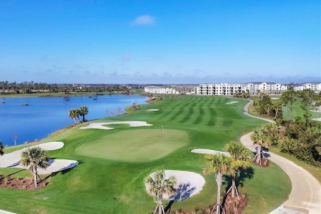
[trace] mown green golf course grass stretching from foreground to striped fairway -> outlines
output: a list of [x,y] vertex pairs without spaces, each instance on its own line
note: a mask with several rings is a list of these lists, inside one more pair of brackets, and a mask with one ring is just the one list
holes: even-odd
[[[239,102],[225,104],[229,101]],[[91,121],[146,121],[153,126],[82,130],[78,128],[85,124],[80,124],[67,128],[60,131],[59,135],[53,135],[42,142],[64,142],[63,148],[49,151],[50,157],[78,160],[79,165],[54,174],[50,177],[50,184],[43,189],[0,189],[1,207],[17,213],[152,212],[156,204],[146,193],[143,179],[156,167],[164,166],[164,169],[187,170],[203,175],[202,170],[207,167],[204,154],[191,153],[191,149],[223,150],[226,143],[239,141],[242,135],[266,123],[242,114],[246,102],[247,100],[217,96],[164,97],[162,103],[140,105],[141,109],[137,112]],[[159,111],[147,112],[146,109]],[[162,135],[150,134],[159,134],[162,126],[165,130],[185,134],[174,142],[168,141],[167,136],[162,138]],[[137,142],[139,136],[131,138],[134,131],[139,132],[148,144]],[[124,139],[119,139],[119,136]],[[117,149],[123,150],[132,148],[131,142],[138,143],[142,151],[134,152],[141,161],[135,162],[122,157],[130,154],[130,151],[121,151],[121,155],[113,156],[104,142],[110,144],[112,149],[119,147]],[[144,149],[146,145],[153,148]],[[86,153],[83,147],[89,149],[90,146],[95,147],[95,154],[100,150],[103,157],[95,157],[89,151]],[[82,150],[82,153],[79,154],[78,150]],[[159,151],[158,155],[158,150],[163,151]],[[6,148],[5,152],[7,151],[9,148]],[[144,160],[144,156],[151,157],[153,152],[158,156],[152,160]],[[0,174],[17,172],[14,176],[26,176],[26,170],[18,171],[19,169],[0,169]],[[174,202],[171,210],[195,210],[215,203],[215,175],[203,176],[206,180],[203,190],[189,199]],[[242,173],[238,181],[239,192],[248,196],[248,206],[243,213],[268,213],[288,198],[291,189],[288,176],[273,163],[268,168],[251,164],[251,170]],[[230,183],[231,178],[227,177],[222,190],[228,188]],[[168,202],[165,200],[164,205]]]

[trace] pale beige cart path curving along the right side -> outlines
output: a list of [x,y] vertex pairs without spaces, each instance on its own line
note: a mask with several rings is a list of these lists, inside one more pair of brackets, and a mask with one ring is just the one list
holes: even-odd
[[[274,123],[272,120],[255,117],[248,114],[248,102],[243,109],[243,114],[252,118],[265,120]],[[253,142],[248,133],[241,137],[241,143],[251,151],[255,151]],[[273,210],[271,213],[321,213],[321,184],[313,177],[308,171],[302,167],[297,166],[292,161],[287,160],[279,155],[268,152],[270,155],[269,160],[277,164],[281,169],[290,177],[292,182],[292,189],[287,201],[280,207]]]

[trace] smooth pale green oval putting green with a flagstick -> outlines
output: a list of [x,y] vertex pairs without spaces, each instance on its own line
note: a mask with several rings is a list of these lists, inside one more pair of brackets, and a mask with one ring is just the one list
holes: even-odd
[[75,149],[84,156],[142,162],[159,159],[189,143],[187,133],[179,130],[126,130],[105,135]]

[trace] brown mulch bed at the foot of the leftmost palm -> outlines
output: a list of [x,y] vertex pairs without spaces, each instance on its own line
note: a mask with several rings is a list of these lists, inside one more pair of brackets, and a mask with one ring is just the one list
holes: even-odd
[[[29,184],[30,183],[30,184]],[[13,189],[41,189],[49,184],[48,180],[38,181],[38,186],[35,188],[34,180],[30,182],[30,178],[10,178],[10,177],[0,177],[0,187],[1,188],[13,188]]]

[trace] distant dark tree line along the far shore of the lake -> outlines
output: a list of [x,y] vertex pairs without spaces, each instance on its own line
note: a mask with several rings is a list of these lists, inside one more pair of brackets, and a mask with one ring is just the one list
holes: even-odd
[[107,85],[107,84],[47,84],[38,82],[0,82],[0,94],[20,94],[20,93],[57,93],[57,92],[95,92],[99,94],[104,91],[126,91],[129,93],[125,85]]

